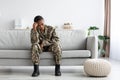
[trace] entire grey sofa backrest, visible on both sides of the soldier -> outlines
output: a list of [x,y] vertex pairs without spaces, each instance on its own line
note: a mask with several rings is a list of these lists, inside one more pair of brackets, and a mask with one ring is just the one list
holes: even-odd
[[[86,32],[82,30],[56,30],[62,50],[85,49]],[[30,30],[1,30],[0,50],[30,50]]]

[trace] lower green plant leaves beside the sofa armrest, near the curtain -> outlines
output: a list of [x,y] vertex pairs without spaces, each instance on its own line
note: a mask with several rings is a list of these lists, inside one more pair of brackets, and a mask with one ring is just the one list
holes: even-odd
[[[98,39],[101,40],[101,41],[103,41],[104,42],[104,46],[106,47],[106,45],[108,44],[108,41],[109,41],[110,37],[99,35]],[[105,57],[106,51],[105,51],[104,47],[100,44],[100,42],[98,42],[98,50],[100,52],[100,56]]]

